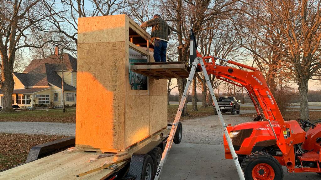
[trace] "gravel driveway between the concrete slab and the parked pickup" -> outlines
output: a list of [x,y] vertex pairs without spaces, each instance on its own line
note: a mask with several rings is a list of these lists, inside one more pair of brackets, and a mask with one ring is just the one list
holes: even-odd
[[[255,110],[241,110],[241,114],[255,113]],[[253,118],[223,113],[226,124],[236,125],[253,121]],[[181,121],[183,125],[183,143],[223,145],[223,129],[218,115]]]

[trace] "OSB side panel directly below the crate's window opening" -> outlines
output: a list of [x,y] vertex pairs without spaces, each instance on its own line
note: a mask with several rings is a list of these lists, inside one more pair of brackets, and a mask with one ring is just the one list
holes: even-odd
[[148,95],[126,95],[125,147],[129,147],[150,135],[149,97]]

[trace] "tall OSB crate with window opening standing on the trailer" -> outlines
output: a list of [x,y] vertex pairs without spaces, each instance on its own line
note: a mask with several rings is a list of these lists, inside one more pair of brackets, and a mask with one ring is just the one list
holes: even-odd
[[126,151],[167,126],[167,80],[129,70],[153,61],[149,40],[126,15],[78,19],[77,148]]

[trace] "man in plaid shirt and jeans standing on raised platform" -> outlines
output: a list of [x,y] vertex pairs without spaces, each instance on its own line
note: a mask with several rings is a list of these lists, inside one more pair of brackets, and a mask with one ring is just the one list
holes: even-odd
[[168,36],[170,33],[169,25],[163,20],[159,14],[155,14],[154,18],[143,22],[142,28],[152,26],[152,44],[154,45],[155,62],[166,62],[166,50]]

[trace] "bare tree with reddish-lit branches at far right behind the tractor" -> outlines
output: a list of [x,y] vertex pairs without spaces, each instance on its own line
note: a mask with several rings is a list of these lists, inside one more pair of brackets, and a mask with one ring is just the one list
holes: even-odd
[[308,81],[317,75],[317,71],[321,68],[321,1],[249,2],[251,9],[255,9],[256,13],[255,16],[252,12],[247,15],[253,19],[253,23],[259,24],[261,29],[264,29],[264,31],[257,30],[259,33],[257,37],[268,38],[268,43],[262,42],[270,46],[270,51],[273,51],[273,55],[270,55],[272,63],[269,64],[274,64],[273,61],[278,64],[279,60],[286,63],[284,66],[288,70],[285,72],[291,73],[293,80],[299,86],[300,118],[309,119]]

